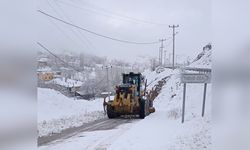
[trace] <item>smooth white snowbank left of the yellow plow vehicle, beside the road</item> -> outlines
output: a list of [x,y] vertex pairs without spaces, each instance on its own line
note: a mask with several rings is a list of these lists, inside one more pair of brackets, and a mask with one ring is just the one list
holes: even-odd
[[74,100],[52,89],[38,88],[39,136],[60,132],[105,117],[103,99]]

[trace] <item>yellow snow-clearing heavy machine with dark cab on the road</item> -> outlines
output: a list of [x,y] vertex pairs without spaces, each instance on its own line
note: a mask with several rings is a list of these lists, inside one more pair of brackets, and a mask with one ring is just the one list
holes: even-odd
[[153,101],[146,95],[147,83],[142,74],[130,72],[122,74],[122,78],[122,84],[116,86],[114,99],[108,102],[104,100],[108,117],[139,115],[144,119],[149,113],[154,112]]

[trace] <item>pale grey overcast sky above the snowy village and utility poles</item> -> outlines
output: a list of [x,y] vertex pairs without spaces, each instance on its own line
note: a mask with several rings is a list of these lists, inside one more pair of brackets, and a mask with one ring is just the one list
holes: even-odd
[[[37,9],[113,38],[152,42],[169,39],[176,29],[176,53],[191,58],[211,42],[210,0],[40,0]],[[38,40],[53,51],[74,51],[134,61],[158,56],[160,44],[135,45],[81,31],[42,14]],[[166,41],[167,56],[172,39]]]

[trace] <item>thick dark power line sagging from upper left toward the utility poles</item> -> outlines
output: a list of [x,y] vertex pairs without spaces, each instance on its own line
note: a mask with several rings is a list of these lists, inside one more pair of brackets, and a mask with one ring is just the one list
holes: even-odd
[[80,26],[77,26],[77,25],[74,25],[74,24],[72,24],[72,23],[70,23],[70,22],[64,21],[64,20],[59,19],[59,18],[57,18],[57,17],[54,17],[54,16],[52,16],[52,15],[50,15],[50,14],[47,14],[47,13],[41,11],[41,10],[37,10],[37,11],[38,11],[39,13],[41,13],[41,14],[47,16],[47,17],[53,18],[53,19],[55,19],[55,20],[57,20],[57,21],[60,21],[60,22],[65,23],[65,24],[67,24],[67,25],[73,26],[73,27],[78,28],[78,29],[80,29],[80,30],[83,30],[83,31],[86,31],[86,32],[88,32],[88,33],[94,34],[94,35],[96,35],[96,36],[103,37],[103,38],[106,38],[106,39],[110,39],[110,40],[113,40],[113,41],[118,41],[118,42],[122,42],[122,43],[129,43],[129,44],[156,44],[156,43],[159,43],[159,41],[155,41],[155,42],[133,42],[133,41],[127,41],[127,40],[121,40],[121,39],[113,38],[113,37],[110,37],[110,36],[106,36],[106,35],[102,35],[102,34],[96,33],[96,32],[94,32],[94,31],[90,31],[90,30],[88,30],[88,29],[85,29],[85,28],[80,27]]

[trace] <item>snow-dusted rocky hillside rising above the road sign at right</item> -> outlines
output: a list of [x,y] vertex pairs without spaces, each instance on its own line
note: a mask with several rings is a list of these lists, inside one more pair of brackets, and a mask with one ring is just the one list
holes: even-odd
[[193,60],[189,67],[211,68],[212,66],[212,46],[207,44],[203,51]]

